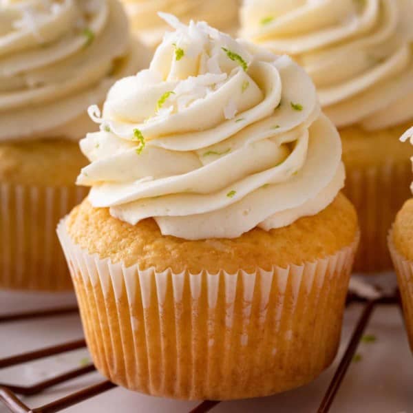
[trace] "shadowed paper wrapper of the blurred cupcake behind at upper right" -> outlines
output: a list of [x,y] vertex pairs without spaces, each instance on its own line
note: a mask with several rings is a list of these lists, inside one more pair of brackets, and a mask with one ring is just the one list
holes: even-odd
[[363,273],[392,268],[388,251],[388,231],[396,213],[410,198],[410,160],[386,162],[377,167],[352,168],[346,165],[344,193],[359,215],[361,242],[354,271]]

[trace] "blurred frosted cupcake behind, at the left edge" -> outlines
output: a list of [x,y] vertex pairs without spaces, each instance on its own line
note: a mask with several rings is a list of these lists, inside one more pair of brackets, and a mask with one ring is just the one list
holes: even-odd
[[148,52],[117,0],[3,2],[0,29],[0,288],[66,290],[54,229],[86,195],[87,107]]

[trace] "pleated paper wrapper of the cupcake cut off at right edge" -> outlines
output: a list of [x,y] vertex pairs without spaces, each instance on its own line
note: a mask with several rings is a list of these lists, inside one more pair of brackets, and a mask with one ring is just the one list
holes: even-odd
[[407,336],[413,351],[413,262],[407,260],[397,251],[392,231],[388,235],[388,246],[399,283]]

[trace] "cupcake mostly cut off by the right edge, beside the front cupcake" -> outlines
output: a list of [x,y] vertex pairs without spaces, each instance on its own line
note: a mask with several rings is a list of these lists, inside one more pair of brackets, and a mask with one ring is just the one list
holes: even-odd
[[[413,144],[413,127],[403,134],[401,141],[409,138]],[[413,191],[413,184],[410,189]],[[397,213],[388,243],[399,282],[405,326],[413,350],[413,198],[407,200]]]

